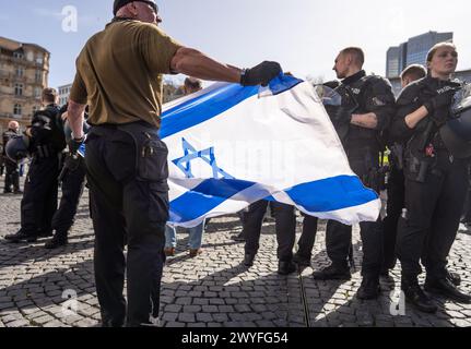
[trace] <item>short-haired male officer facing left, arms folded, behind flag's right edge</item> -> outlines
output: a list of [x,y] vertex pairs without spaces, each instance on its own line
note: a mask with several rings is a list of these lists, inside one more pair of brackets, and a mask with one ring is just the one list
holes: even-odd
[[[379,192],[379,156],[384,149],[380,133],[395,113],[395,96],[389,82],[362,70],[364,53],[360,48],[340,52],[333,70],[343,79],[337,88],[344,107],[354,113],[337,115],[332,120],[338,131],[352,170],[363,183]],[[349,108],[345,108],[346,110]],[[331,117],[332,118],[332,117]],[[374,299],[379,294],[379,273],[382,262],[382,231],[377,221],[361,222],[363,242],[362,285],[360,299]],[[350,279],[348,256],[352,244],[352,227],[330,220],[326,232],[327,253],[332,264],[313,274],[315,279]]]

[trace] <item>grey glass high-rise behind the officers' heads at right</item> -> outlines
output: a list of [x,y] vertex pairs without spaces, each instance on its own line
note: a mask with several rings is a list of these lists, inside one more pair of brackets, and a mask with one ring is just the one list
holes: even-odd
[[454,33],[428,32],[408,39],[400,46],[390,47],[386,58],[386,76],[398,77],[410,64],[426,64],[428,50],[438,43],[452,41]]

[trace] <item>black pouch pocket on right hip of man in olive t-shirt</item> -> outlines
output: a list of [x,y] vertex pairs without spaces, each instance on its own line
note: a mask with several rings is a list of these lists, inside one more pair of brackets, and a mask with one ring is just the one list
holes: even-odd
[[146,132],[144,134],[145,140],[140,145],[138,157],[139,179],[151,182],[164,181],[168,178],[168,148],[156,135]]

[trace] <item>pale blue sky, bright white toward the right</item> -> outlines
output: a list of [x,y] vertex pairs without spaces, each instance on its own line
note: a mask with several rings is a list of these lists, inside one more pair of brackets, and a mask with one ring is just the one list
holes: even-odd
[[[276,60],[285,71],[334,77],[338,51],[361,46],[365,69],[385,74],[386,50],[428,31],[455,32],[458,69],[471,68],[467,1],[450,0],[161,0],[165,32],[181,44],[242,68]],[[76,33],[62,31],[62,8],[79,12]],[[113,0],[0,0],[0,36],[51,52],[49,85],[73,80],[86,39],[111,19]]]

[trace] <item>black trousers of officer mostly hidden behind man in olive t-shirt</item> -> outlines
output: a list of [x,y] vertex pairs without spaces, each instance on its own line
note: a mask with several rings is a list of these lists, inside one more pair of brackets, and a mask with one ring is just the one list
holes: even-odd
[[59,208],[52,217],[52,229],[56,238],[67,239],[69,229],[73,226],[80,197],[85,186],[85,161],[80,159],[75,170],[69,170],[62,179],[62,196]]

